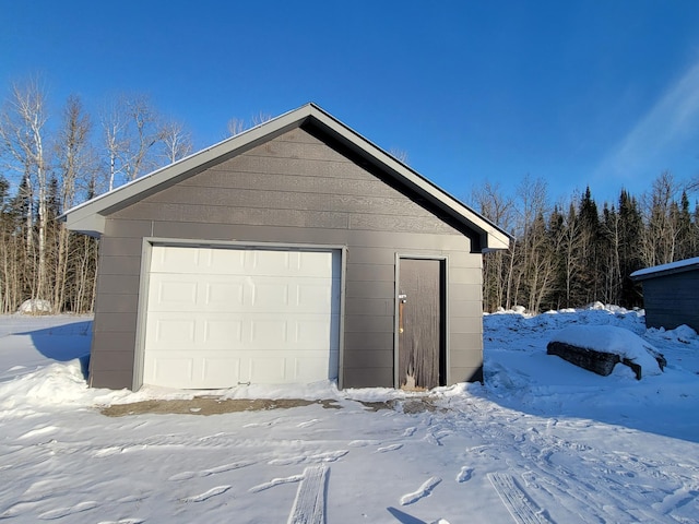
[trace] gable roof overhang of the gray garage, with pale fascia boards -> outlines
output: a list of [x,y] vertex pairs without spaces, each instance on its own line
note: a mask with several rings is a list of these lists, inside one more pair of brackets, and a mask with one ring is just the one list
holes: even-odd
[[364,160],[389,174],[399,183],[436,205],[458,223],[474,230],[481,240],[481,251],[509,247],[512,237],[505,230],[312,103],[76,205],[59,218],[66,222],[70,230],[98,237],[105,231],[105,217],[110,213],[199,174],[222,159],[245,153],[300,126],[312,126],[321,130]]

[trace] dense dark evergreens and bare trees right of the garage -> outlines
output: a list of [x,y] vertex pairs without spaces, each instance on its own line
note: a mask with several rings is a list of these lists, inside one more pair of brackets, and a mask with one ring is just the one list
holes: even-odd
[[530,177],[514,194],[487,182],[474,189],[472,205],[514,235],[510,249],[484,257],[485,310],[642,307],[632,272],[699,255],[699,204],[690,204],[690,189],[662,172],[642,195],[621,190],[602,206],[589,187],[550,205],[545,182]]

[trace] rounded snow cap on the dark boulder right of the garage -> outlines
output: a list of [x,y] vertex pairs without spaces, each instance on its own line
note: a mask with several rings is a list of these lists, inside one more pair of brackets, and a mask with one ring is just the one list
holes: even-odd
[[644,376],[662,372],[656,360],[660,352],[640,336],[623,327],[571,325],[554,335],[552,342],[618,355],[621,359],[626,358],[639,365]]

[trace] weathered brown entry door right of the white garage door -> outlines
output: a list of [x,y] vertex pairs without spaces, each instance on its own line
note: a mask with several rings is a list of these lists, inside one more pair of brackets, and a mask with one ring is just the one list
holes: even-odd
[[402,258],[399,281],[398,385],[443,385],[443,262]]

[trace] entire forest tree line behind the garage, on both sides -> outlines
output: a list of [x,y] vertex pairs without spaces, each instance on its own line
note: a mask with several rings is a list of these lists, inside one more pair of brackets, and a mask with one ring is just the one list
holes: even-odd
[[[269,119],[233,118],[225,134]],[[0,110],[0,313],[27,299],[45,300],[51,312],[92,311],[98,241],[66,230],[58,217],[191,152],[186,127],[143,95],[112,97],[97,115],[70,96],[52,114],[39,81],[12,84]],[[530,177],[514,194],[485,183],[471,204],[516,238],[484,257],[487,311],[642,306],[631,272],[699,255],[699,206],[668,172],[640,198],[623,190],[601,207],[590,189],[550,205],[546,184]]]

